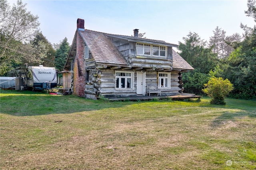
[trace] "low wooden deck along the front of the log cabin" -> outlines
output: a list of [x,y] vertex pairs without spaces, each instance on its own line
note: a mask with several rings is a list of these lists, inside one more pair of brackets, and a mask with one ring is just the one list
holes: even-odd
[[174,95],[174,96],[134,96],[134,97],[126,97],[126,98],[117,98],[117,97],[108,97],[107,99],[110,101],[116,101],[116,100],[152,100],[152,99],[166,99],[166,98],[172,98],[172,100],[185,100],[185,99],[194,99],[198,98],[200,99],[202,96],[196,96],[195,94],[188,94],[188,93],[183,93],[180,95]]

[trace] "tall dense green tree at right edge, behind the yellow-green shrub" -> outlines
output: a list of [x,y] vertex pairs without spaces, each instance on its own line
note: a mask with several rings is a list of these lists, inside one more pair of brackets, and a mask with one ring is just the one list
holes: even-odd
[[[247,16],[252,16],[256,21],[256,1],[248,0]],[[228,78],[234,84],[232,96],[235,98],[256,98],[256,27],[244,29],[244,40],[237,43],[235,50],[227,59],[215,68],[214,76]],[[239,37],[238,37],[239,39]]]

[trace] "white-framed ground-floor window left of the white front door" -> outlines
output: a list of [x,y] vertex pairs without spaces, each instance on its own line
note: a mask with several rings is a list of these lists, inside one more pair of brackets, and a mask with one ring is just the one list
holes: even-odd
[[134,89],[134,72],[116,71],[116,90]]

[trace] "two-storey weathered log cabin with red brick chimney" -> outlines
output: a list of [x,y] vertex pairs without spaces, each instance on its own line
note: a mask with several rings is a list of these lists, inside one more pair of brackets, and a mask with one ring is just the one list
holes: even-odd
[[78,19],[63,86],[94,100],[182,94],[182,72],[194,68],[173,50],[178,45],[140,38],[138,29],[133,31],[134,36],[92,31]]

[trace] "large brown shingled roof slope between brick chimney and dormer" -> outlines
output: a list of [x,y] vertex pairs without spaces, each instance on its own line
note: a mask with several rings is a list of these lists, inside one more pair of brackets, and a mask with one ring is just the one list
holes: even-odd
[[78,30],[96,63],[128,65],[128,62],[105,33],[85,29]]

